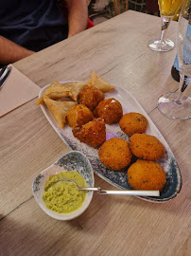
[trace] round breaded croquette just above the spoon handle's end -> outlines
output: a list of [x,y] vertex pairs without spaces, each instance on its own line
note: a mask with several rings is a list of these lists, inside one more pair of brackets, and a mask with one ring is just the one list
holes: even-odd
[[139,191],[162,191],[165,171],[154,161],[137,160],[128,169],[130,186]]

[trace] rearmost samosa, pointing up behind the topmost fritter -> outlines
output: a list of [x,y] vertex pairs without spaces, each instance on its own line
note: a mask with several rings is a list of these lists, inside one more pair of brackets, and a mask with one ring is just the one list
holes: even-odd
[[96,75],[95,71],[92,71],[88,84],[95,86],[97,89],[99,89],[103,93],[111,92],[114,90],[114,86],[109,82],[100,78],[98,75]]

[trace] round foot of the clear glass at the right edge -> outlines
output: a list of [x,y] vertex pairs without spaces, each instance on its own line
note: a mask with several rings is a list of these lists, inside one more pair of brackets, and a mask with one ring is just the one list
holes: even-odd
[[178,93],[166,93],[159,98],[158,109],[170,119],[191,119],[191,98],[177,101]]

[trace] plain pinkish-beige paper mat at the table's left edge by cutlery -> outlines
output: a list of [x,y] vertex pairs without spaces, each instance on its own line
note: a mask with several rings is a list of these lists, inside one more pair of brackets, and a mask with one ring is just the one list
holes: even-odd
[[11,66],[9,77],[0,89],[0,117],[33,100],[41,90],[13,65],[9,66]]

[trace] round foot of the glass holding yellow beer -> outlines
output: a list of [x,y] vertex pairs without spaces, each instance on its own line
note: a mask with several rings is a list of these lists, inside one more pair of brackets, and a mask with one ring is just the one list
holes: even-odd
[[169,39],[164,41],[153,39],[148,42],[148,47],[155,51],[169,51],[174,48],[174,43]]

